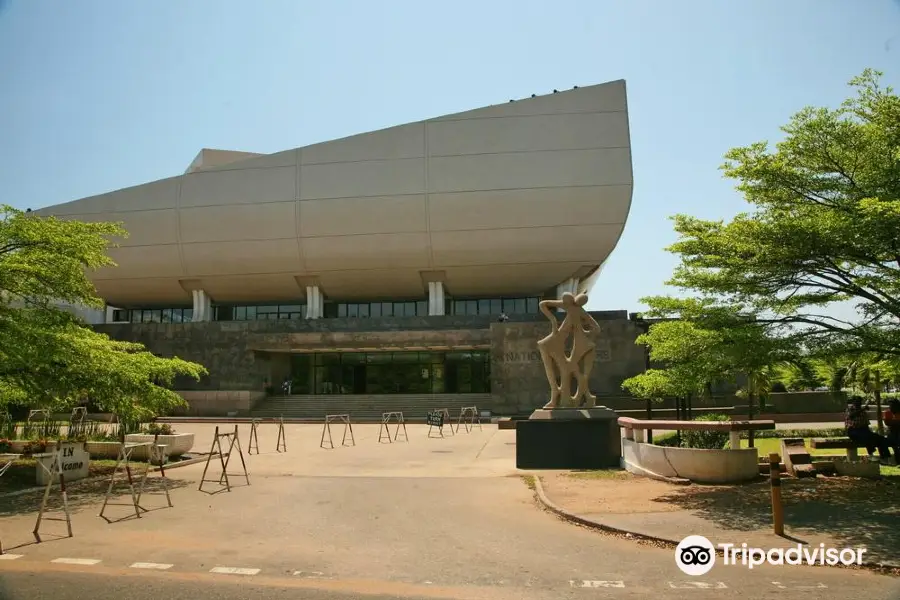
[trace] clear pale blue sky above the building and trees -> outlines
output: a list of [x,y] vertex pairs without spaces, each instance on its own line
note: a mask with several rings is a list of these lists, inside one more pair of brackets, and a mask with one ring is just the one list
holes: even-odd
[[628,225],[591,297],[640,308],[675,264],[667,216],[747,206],[718,171],[836,105],[900,87],[898,0],[0,0],[0,202],[169,177],[202,147],[276,152],[626,79]]

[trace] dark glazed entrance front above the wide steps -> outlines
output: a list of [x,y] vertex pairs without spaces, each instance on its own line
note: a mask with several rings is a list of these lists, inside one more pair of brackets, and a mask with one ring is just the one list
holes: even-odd
[[291,356],[294,394],[482,394],[490,353],[335,352]]

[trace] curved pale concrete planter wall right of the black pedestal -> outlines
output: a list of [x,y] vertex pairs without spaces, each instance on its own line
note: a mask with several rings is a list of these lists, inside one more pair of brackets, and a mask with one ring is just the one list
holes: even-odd
[[737,483],[759,477],[756,448],[673,448],[623,438],[622,458],[627,471],[648,477],[688,479],[697,483]]

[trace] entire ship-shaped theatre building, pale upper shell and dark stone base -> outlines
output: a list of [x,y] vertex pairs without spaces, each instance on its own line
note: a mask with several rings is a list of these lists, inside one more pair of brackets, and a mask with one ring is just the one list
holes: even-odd
[[[298,403],[478,395],[515,413],[546,395],[538,302],[592,288],[631,195],[615,81],[275,154],[205,149],[36,212],[124,224],[117,266],[91,274],[95,326],[204,364],[179,384],[207,393],[198,412],[249,410],[288,378]],[[596,391],[621,396],[637,331],[596,317]]]

